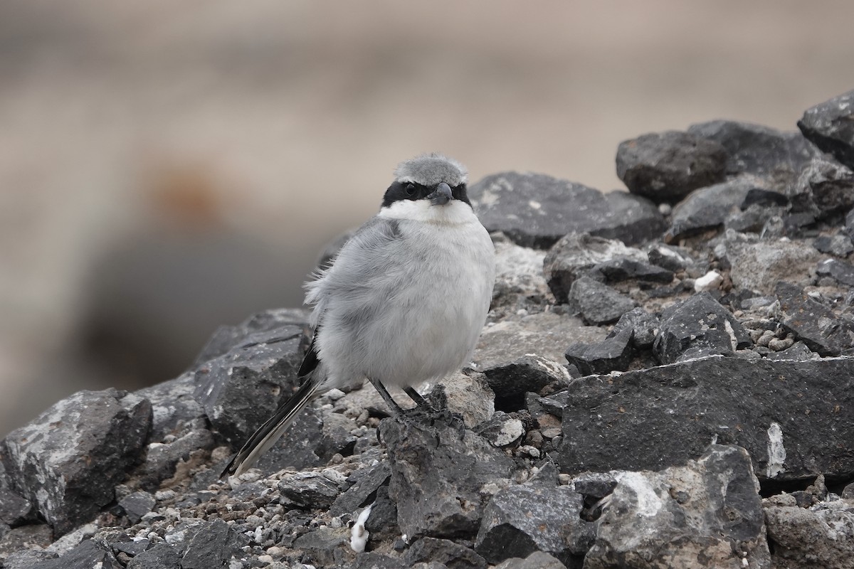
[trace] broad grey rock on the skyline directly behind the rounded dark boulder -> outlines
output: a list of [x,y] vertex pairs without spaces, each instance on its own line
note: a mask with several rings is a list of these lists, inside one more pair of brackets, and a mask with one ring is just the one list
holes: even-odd
[[799,132],[733,120],[712,120],[688,127],[688,132],[719,142],[726,149],[727,174],[791,179],[818,154]]

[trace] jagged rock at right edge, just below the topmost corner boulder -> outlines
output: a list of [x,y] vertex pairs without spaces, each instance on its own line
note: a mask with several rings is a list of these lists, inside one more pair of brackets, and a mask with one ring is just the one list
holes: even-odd
[[816,219],[845,213],[854,206],[854,172],[839,162],[814,158],[787,195],[793,212],[810,212]]

